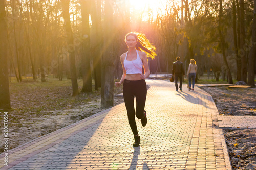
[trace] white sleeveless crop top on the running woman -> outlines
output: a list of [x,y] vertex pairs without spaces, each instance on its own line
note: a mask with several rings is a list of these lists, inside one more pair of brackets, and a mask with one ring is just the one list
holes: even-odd
[[127,75],[142,73],[143,63],[142,63],[142,61],[140,59],[140,56],[139,56],[139,53],[138,53],[137,50],[136,50],[136,52],[137,52],[137,58],[135,60],[128,61],[127,60],[128,52],[127,52],[127,54],[125,56],[125,59],[123,61],[123,65],[124,65],[124,68],[126,70],[126,74]]

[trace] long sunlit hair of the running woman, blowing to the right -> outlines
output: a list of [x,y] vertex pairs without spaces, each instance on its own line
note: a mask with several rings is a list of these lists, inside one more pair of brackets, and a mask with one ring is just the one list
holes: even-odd
[[155,53],[156,47],[150,43],[150,41],[146,38],[144,34],[138,33],[138,32],[130,32],[125,35],[125,39],[124,39],[125,42],[129,35],[134,36],[135,39],[137,40],[138,43],[135,46],[137,50],[145,52],[147,56],[151,57],[152,59],[155,58],[155,56],[157,55]]

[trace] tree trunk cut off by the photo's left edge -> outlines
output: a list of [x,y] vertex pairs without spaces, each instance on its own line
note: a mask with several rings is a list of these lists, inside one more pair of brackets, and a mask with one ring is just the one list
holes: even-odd
[[11,109],[8,81],[8,37],[5,1],[0,1],[0,109]]

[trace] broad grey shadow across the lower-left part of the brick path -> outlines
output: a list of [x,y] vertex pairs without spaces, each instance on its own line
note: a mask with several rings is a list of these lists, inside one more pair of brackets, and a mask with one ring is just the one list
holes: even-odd
[[[12,154],[15,154],[15,152],[20,151],[24,151],[24,156],[10,163],[7,166],[8,169],[56,169],[72,166],[75,168],[74,165],[77,163],[77,155],[79,155],[79,153],[80,155],[82,155],[81,152],[83,152],[84,147],[89,142],[95,142],[93,141],[95,140],[93,136],[95,132],[98,130],[99,126],[102,124],[105,116],[108,116],[108,113],[110,111],[111,109],[105,110],[102,113],[100,113],[102,115],[104,115],[105,113],[104,116],[97,118],[96,116],[100,116],[100,114],[98,113],[98,115],[94,115],[86,119],[83,119],[78,123],[72,124],[68,127],[62,128],[46,136],[35,139],[30,143],[22,145],[22,147],[20,148],[15,148],[14,150],[11,150],[10,158],[12,157]],[[92,120],[91,122],[89,121],[95,117],[97,119]],[[90,123],[88,123],[88,121]],[[83,127],[80,128],[79,126]],[[74,127],[76,128],[71,133],[69,132],[69,134],[65,134],[63,135],[63,137],[60,137],[58,140],[54,141],[54,138],[58,137],[58,134],[63,134],[67,130],[69,130],[69,128]],[[40,144],[42,144],[42,142],[45,145],[44,147],[40,148]],[[32,148],[33,145],[37,146]],[[31,148],[31,151],[29,151],[29,149],[26,148]],[[88,150],[88,152],[90,152],[90,149]]]

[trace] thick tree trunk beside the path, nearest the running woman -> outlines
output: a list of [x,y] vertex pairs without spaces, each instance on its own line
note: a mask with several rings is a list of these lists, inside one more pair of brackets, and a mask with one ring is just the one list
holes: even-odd
[[104,15],[104,44],[102,58],[101,107],[110,107],[114,104],[114,52],[113,52],[113,0],[105,1]]

